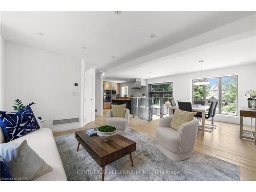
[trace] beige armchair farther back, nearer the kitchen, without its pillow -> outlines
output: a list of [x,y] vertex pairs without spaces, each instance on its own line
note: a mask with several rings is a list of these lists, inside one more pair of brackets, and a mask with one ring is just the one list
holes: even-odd
[[126,133],[126,129],[129,123],[130,110],[125,109],[124,117],[112,117],[112,110],[106,112],[106,124],[115,126],[118,134]]

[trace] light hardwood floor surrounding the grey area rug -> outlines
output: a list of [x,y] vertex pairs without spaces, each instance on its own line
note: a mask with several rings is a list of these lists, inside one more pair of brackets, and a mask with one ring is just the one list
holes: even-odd
[[[96,116],[94,122],[84,127],[57,132],[53,135],[66,135],[91,127],[105,125],[106,111],[108,110],[103,110],[103,116]],[[159,119],[147,122],[130,116],[129,127],[156,137],[155,130],[158,123]],[[210,122],[206,123],[210,124]],[[215,124],[217,125],[217,129],[211,133],[205,132],[205,135],[202,136],[201,132],[198,132],[194,150],[240,165],[240,180],[256,181],[256,145],[251,141],[239,138],[239,125],[223,122],[215,122]]]

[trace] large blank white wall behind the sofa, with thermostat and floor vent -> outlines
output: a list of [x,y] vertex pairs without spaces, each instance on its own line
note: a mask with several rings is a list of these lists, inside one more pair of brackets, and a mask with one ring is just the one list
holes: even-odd
[[52,125],[52,120],[80,117],[80,59],[5,41],[4,70],[5,110],[13,111],[13,99],[33,101],[34,113],[46,118],[43,126],[53,131],[80,127],[80,123]]

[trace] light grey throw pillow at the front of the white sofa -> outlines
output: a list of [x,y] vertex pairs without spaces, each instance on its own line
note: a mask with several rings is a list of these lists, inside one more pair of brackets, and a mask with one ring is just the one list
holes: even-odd
[[21,143],[0,144],[0,156],[8,165],[14,181],[31,181],[52,170],[52,167],[32,150],[27,140]]

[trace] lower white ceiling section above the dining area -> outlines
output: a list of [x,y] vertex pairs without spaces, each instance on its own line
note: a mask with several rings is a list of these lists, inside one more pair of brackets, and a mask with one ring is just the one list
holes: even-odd
[[112,78],[126,77],[149,79],[196,72],[201,70],[201,65],[198,63],[199,60],[204,60],[203,70],[256,63],[256,36],[172,59],[151,62],[149,65],[118,73],[118,76],[113,75]]

